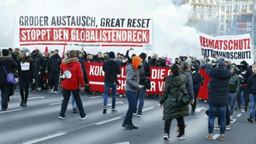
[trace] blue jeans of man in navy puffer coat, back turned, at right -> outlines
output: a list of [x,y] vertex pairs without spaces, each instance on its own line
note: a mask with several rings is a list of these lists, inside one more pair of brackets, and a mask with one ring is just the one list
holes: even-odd
[[208,135],[213,135],[214,119],[216,112],[219,112],[220,119],[220,136],[225,135],[225,126],[226,126],[226,105],[211,105],[209,104],[209,119],[208,119]]

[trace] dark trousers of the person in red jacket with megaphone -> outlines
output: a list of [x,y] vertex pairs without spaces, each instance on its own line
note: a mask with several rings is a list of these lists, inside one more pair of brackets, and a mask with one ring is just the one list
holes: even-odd
[[81,116],[81,118],[84,118],[86,113],[84,112],[84,108],[83,108],[83,103],[81,101],[81,97],[79,95],[79,91],[80,89],[77,90],[66,90],[63,89],[63,100],[62,100],[62,104],[61,104],[61,110],[60,110],[60,116],[65,116],[65,112],[67,111],[67,107],[68,107],[68,101],[70,98],[70,92],[72,92],[75,101],[76,101],[76,105],[79,111],[79,115]]

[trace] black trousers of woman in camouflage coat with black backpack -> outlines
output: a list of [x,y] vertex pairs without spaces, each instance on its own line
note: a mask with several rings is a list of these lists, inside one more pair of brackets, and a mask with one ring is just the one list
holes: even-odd
[[[178,122],[178,126],[180,128],[180,135],[185,133],[185,122],[183,117],[181,118],[176,118],[177,122]],[[164,122],[164,133],[168,133],[170,134],[170,127],[171,127],[171,123],[172,123],[172,119],[171,120],[165,120]]]

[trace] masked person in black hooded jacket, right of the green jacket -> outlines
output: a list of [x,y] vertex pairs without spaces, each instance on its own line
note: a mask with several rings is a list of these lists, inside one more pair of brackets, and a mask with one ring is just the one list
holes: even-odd
[[249,105],[249,97],[248,97],[248,93],[246,91],[246,83],[247,83],[248,78],[250,76],[252,76],[252,70],[247,67],[246,61],[241,61],[240,64],[241,64],[241,67],[237,73],[240,78],[240,88],[239,88],[238,94],[236,95],[237,107],[235,108],[235,110],[241,109],[241,92],[244,91],[244,99],[245,99],[244,111],[247,111],[247,107]]

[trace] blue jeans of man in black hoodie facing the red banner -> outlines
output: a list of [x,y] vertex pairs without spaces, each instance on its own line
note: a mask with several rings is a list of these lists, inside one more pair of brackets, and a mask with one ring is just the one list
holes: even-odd
[[112,109],[116,107],[116,83],[104,83],[104,106],[108,103],[108,93],[111,88],[112,92]]

